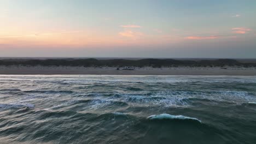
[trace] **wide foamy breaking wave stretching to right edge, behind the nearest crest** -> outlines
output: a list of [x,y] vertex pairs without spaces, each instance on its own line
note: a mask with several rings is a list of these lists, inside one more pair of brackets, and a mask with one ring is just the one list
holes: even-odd
[[[254,101],[253,93],[243,91],[162,91],[146,93],[88,93],[82,97],[91,97],[95,106],[110,101],[121,101],[126,104],[145,104],[161,106],[188,106],[197,103],[203,104],[240,104],[245,101]],[[82,102],[82,101],[80,101]],[[79,103],[79,102],[78,102]],[[83,103],[83,102],[82,102]],[[86,103],[86,101],[84,101]],[[120,104],[118,104],[120,105]]]

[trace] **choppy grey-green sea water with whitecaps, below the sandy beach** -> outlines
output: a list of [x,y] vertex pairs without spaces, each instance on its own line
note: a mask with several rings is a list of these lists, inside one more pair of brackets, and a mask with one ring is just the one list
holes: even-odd
[[0,143],[256,143],[256,76],[0,75]]

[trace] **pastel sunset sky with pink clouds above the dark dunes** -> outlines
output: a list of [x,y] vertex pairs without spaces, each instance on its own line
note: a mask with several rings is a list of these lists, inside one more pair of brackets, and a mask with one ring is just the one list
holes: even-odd
[[256,58],[256,1],[0,0],[0,57]]

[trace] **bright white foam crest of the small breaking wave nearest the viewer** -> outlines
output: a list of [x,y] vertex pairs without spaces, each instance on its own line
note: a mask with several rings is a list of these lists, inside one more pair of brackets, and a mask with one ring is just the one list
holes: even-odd
[[162,113],[160,115],[152,115],[152,116],[147,117],[147,119],[191,119],[191,120],[198,121],[201,123],[201,121],[199,119],[194,118],[194,117],[186,117],[186,116],[182,116],[182,115],[175,116],[175,115],[170,115],[167,113]]

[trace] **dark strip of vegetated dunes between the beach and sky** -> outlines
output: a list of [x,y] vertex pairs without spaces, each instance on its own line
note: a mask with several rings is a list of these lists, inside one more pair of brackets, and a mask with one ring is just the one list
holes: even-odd
[[88,59],[28,59],[26,61],[12,61],[5,59],[0,61],[0,65],[24,65],[24,66],[80,66],[80,67],[256,67],[256,63],[241,63],[235,59],[216,59],[216,60],[176,60],[176,59],[105,59],[98,60],[95,58]]

